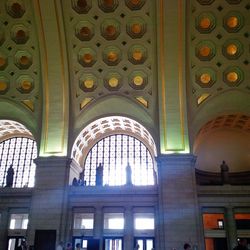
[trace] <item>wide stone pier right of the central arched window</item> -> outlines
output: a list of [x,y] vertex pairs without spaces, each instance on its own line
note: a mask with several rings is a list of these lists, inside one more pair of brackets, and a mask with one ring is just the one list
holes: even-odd
[[183,249],[185,242],[201,246],[196,195],[195,157],[193,155],[161,155],[159,171],[160,250]]

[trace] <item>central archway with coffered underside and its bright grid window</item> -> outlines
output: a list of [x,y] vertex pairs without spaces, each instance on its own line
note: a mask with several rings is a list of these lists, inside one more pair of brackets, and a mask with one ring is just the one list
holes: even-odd
[[156,146],[148,130],[122,116],[90,123],[77,137],[72,158],[83,169],[85,185],[96,184],[97,165],[104,168],[103,185],[124,185],[126,167],[134,185],[155,184]]

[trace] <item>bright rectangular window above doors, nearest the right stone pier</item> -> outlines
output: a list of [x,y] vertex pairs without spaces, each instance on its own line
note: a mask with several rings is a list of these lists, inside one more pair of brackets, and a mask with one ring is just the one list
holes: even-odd
[[154,229],[153,213],[135,213],[134,227],[136,230],[153,230]]

